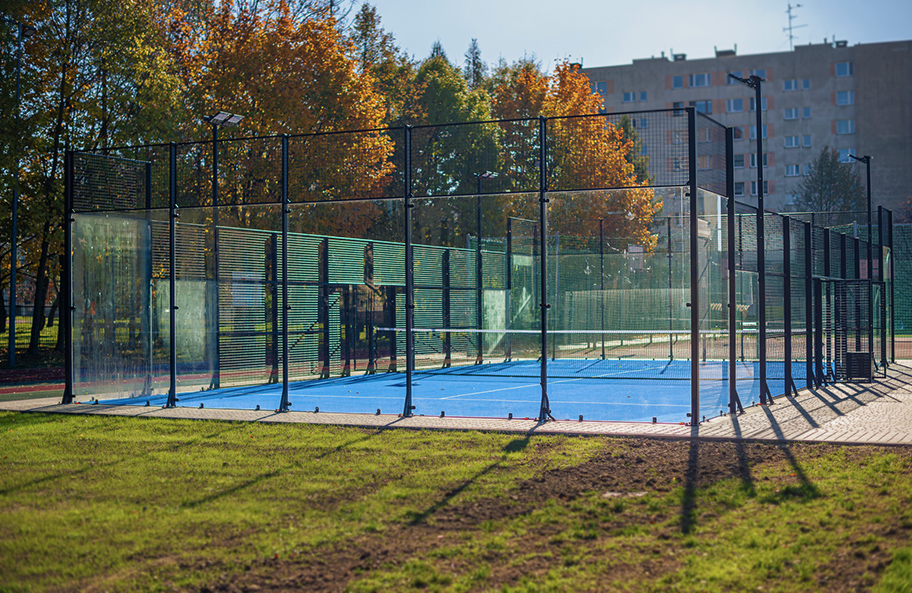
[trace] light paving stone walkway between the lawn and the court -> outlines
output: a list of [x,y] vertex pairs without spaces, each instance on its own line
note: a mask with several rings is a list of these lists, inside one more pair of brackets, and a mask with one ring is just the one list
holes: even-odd
[[825,441],[852,444],[912,444],[912,361],[892,365],[886,378],[873,383],[836,384],[781,396],[771,406],[752,406],[743,414],[709,419],[699,425],[634,422],[538,423],[500,418],[437,418],[315,412],[147,408],[104,404],[60,404],[59,398],[0,402],[0,409],[56,414],[98,414],[148,418],[184,418],[236,422],[332,424],[365,428],[426,430],[496,430],[528,434],[644,436],[656,438]]

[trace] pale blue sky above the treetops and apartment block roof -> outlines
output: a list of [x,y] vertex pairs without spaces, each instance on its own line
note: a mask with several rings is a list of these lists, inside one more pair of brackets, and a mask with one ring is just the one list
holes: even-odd
[[[410,55],[424,58],[439,39],[462,63],[477,38],[488,63],[535,54],[584,66],[629,64],[673,50],[688,59],[714,47],[739,55],[788,51],[787,2],[757,0],[372,0],[381,24]],[[910,0],[802,0],[792,14],[798,44],[824,38],[856,43],[912,38]],[[799,25],[805,25],[798,28]]]

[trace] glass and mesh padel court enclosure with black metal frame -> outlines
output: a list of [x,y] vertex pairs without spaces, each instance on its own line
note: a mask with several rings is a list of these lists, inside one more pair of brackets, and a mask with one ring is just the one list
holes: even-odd
[[[589,138],[621,128],[649,157],[615,187]],[[341,411],[308,389],[394,373],[402,416],[439,403],[417,377],[508,377],[534,408],[464,415],[689,423],[883,373],[892,213],[875,246],[737,202],[733,142],[688,107],[70,151],[64,402]]]

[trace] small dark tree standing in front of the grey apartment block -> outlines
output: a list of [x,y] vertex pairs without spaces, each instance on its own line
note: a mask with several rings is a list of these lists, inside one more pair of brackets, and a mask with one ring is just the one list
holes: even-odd
[[864,185],[851,163],[824,146],[798,186],[795,207],[806,212],[853,212],[866,208]]

